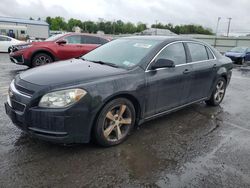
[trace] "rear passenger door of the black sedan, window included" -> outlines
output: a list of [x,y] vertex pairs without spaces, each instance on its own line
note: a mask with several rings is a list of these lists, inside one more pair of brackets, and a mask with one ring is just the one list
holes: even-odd
[[193,67],[189,102],[208,97],[217,70],[217,60],[209,47],[196,42],[185,43]]

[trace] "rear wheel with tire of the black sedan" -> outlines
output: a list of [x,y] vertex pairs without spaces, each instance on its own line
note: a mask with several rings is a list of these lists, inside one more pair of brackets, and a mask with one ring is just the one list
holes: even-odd
[[212,93],[210,99],[205,101],[207,103],[207,105],[210,105],[210,106],[220,105],[220,103],[222,102],[222,100],[225,96],[226,87],[227,87],[227,82],[226,82],[225,78],[220,77],[219,79],[217,79],[215,88],[213,89],[213,93]]

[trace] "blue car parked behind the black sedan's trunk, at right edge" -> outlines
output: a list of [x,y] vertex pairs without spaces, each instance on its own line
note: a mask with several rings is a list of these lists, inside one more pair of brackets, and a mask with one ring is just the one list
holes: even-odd
[[232,59],[233,62],[244,64],[250,61],[250,48],[249,47],[235,47],[225,53],[225,56]]

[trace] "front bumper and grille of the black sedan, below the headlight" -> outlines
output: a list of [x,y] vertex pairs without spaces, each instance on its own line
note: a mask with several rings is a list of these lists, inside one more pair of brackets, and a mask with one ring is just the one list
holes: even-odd
[[[29,84],[18,78],[16,80],[22,86]],[[10,97],[5,103],[6,114],[18,128],[46,141],[89,142],[94,115],[90,113],[88,99],[65,109],[40,108],[36,94],[18,84],[11,83]],[[29,88],[35,87],[38,86],[29,84]]]

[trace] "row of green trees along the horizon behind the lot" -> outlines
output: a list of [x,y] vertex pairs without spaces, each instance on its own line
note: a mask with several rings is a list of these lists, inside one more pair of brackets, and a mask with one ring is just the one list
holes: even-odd
[[[47,17],[46,22],[50,25],[50,30],[72,31],[74,27],[78,26],[84,32],[96,33],[103,31],[105,34],[133,34],[141,33],[147,29],[147,24],[138,22],[137,24],[131,22],[123,22],[122,20],[106,21],[99,19],[99,21],[81,21],[79,19],[71,18],[65,21],[63,17]],[[173,24],[153,24],[152,28],[169,29],[176,34],[207,34],[212,35],[212,30],[203,28],[200,25],[176,25]]]

